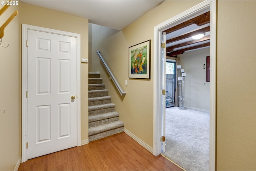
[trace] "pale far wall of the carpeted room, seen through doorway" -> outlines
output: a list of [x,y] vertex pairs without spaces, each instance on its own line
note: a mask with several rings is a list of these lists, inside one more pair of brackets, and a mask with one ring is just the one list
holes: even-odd
[[210,82],[206,82],[206,56],[210,56],[210,48],[184,52],[178,56],[179,65],[186,73],[185,107],[210,111]]

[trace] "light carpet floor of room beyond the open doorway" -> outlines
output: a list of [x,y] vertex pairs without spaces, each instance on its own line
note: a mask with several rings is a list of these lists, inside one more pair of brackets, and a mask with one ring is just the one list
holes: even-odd
[[186,170],[209,170],[208,112],[166,108],[166,152]]

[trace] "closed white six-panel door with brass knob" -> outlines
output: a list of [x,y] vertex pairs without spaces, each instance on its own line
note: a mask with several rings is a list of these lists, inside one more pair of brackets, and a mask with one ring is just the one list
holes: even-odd
[[28,159],[77,145],[76,43],[28,30]]

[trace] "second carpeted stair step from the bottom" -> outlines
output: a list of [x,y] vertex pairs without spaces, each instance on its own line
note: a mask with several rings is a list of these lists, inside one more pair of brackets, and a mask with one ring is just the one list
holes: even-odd
[[96,126],[96,125],[102,125],[105,123],[109,123],[112,121],[117,121],[119,119],[119,113],[116,111],[108,112],[108,113],[102,113],[98,115],[90,115],[89,120],[89,127]]

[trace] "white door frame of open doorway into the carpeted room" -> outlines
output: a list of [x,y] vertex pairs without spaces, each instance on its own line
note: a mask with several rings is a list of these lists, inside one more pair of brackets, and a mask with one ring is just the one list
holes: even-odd
[[162,128],[162,101],[161,101],[161,36],[162,31],[172,25],[187,20],[188,16],[208,8],[210,10],[210,158],[209,169],[215,170],[216,156],[216,1],[208,0],[180,13],[179,15],[166,20],[154,27],[154,104],[153,104],[153,154],[159,155],[161,151],[161,128]]

